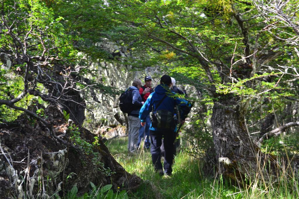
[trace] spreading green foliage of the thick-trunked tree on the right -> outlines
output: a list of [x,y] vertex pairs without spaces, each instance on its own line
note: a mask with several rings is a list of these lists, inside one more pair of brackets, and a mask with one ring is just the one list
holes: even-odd
[[[264,91],[261,89],[265,84],[260,87],[261,83],[257,82],[267,75],[280,74],[273,72],[274,67],[268,70],[254,63],[254,59],[264,56],[264,51],[282,52],[280,58],[270,61],[271,66],[289,61],[288,52],[291,50],[285,50],[283,43],[275,40],[273,35],[260,31],[266,24],[250,1],[168,0],[132,3],[128,0],[123,1],[122,5],[118,1],[110,3],[107,11],[110,11],[118,26],[110,29],[112,36],[109,38],[119,41],[125,35],[122,44],[132,48],[132,55],[146,58],[148,64],[166,66],[167,73],[179,73],[188,79],[185,82],[196,88],[209,90],[215,86],[220,96],[232,93],[236,97],[252,98]],[[236,15],[242,16],[242,28],[248,31],[247,36],[244,35],[245,30],[240,31],[241,24]],[[256,46],[256,49],[249,49],[252,51],[250,53],[256,55],[245,60],[247,37],[249,48]],[[144,53],[148,56],[144,56]],[[202,64],[203,60],[210,67],[213,82],[208,77],[207,67]],[[237,60],[247,61],[247,65],[232,64]],[[131,63],[132,60],[128,61]],[[255,70],[258,70],[258,75],[251,74],[257,72]],[[237,83],[229,78],[232,72],[237,75],[237,78],[233,75]],[[271,89],[274,87],[284,88],[272,83]]]

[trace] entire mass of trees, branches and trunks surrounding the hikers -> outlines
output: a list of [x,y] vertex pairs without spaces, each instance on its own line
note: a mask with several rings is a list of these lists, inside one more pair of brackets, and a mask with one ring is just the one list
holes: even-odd
[[243,184],[263,164],[277,175],[261,144],[299,125],[297,0],[0,2],[1,123],[26,112],[67,144],[38,104],[79,126],[97,112],[125,124],[121,91],[167,73],[191,88],[189,129],[210,141],[220,175]]

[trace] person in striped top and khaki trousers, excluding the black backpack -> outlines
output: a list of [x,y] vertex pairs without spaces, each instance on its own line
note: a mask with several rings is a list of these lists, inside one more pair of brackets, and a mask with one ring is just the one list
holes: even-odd
[[129,134],[128,134],[128,151],[134,152],[138,147],[138,135],[140,127],[139,111],[144,102],[142,101],[139,89],[142,85],[140,79],[135,79],[132,86],[129,88],[132,90],[132,104],[133,110],[128,113],[129,121]]

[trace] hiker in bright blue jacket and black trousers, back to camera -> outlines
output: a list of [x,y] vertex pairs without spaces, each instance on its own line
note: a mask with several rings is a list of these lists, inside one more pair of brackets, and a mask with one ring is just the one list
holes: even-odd
[[[183,114],[181,115],[182,122],[187,117],[190,112],[190,108],[187,103],[179,98],[174,97],[174,93],[170,91],[171,78],[169,75],[163,75],[160,80],[160,84],[155,88],[155,92],[151,93],[145,101],[144,105],[141,107],[139,112],[139,118],[141,120],[141,125],[144,126],[146,122],[147,115],[154,110],[167,110],[174,114],[175,105],[179,105],[182,109]],[[166,97],[164,98],[164,96]],[[164,98],[164,99],[163,99]],[[159,102],[163,99],[161,104],[158,106]],[[158,106],[158,108],[156,108]],[[173,142],[174,142],[174,128],[173,129],[159,129],[149,127],[149,135],[151,137],[151,155],[152,163],[154,165],[155,172],[160,175],[171,175],[172,164],[173,164]],[[164,138],[164,172],[161,163],[161,149],[162,138]]]

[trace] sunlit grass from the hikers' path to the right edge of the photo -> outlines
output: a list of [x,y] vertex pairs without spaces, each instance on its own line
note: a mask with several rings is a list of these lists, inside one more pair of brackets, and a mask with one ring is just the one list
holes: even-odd
[[154,172],[149,149],[141,147],[135,154],[129,154],[127,138],[110,140],[106,145],[127,172],[144,180],[129,198],[299,198],[298,174],[292,171],[291,165],[278,165],[280,175],[270,181],[260,180],[258,171],[255,179],[248,179],[248,186],[239,187],[221,176],[207,176],[202,162],[184,151],[175,157],[172,177],[164,178]]

